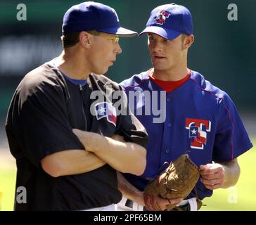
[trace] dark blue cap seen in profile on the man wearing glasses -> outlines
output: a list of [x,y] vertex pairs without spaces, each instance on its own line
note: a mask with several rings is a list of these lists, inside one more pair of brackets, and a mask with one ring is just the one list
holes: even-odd
[[115,9],[109,6],[94,1],[72,6],[63,18],[63,34],[89,30],[123,37],[132,37],[137,34],[137,32],[120,27]]

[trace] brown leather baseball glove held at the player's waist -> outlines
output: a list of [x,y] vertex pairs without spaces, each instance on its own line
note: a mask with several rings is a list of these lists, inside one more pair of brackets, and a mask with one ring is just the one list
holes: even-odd
[[[196,186],[199,176],[198,166],[190,160],[187,154],[181,155],[174,162],[170,162],[169,167],[146,186],[144,191],[146,209],[149,211],[160,210],[156,197],[168,200],[186,198]],[[167,210],[172,210],[175,206],[176,204],[169,204]]]

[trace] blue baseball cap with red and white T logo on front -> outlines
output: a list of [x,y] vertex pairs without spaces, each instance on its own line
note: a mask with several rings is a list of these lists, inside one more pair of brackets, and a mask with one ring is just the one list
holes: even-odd
[[174,3],[158,6],[151,12],[146,29],[139,35],[149,32],[168,40],[180,34],[193,34],[192,15],[186,7]]

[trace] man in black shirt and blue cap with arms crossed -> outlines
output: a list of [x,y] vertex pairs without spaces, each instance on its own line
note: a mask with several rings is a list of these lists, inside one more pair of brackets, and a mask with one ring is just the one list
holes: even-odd
[[143,173],[146,131],[120,86],[102,75],[122,52],[118,38],[135,34],[103,4],[65,13],[63,53],[23,78],[8,110],[16,190],[26,191],[15,210],[114,210],[122,198],[116,170]]

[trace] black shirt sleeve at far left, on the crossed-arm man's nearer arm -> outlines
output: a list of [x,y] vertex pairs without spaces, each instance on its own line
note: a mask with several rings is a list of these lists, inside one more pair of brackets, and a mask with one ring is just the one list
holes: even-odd
[[31,88],[23,85],[13,98],[10,127],[20,143],[23,155],[39,167],[52,153],[84,149],[72,133],[68,120],[65,92],[56,80]]

